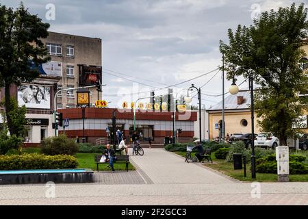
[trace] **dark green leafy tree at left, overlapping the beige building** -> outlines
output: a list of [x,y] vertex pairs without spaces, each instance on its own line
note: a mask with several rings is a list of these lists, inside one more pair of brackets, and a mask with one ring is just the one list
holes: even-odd
[[[47,38],[48,23],[29,14],[23,4],[13,10],[0,5],[0,86],[5,90],[5,112],[11,135],[19,135],[10,116],[10,87],[30,83],[39,76],[39,64],[48,62],[47,48],[40,40]],[[29,62],[34,64],[30,67]]]

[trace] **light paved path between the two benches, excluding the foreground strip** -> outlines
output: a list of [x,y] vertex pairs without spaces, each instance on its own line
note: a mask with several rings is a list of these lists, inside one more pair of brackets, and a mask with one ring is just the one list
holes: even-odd
[[183,157],[165,149],[144,149],[143,156],[129,158],[154,184],[235,183],[203,166],[188,164]]

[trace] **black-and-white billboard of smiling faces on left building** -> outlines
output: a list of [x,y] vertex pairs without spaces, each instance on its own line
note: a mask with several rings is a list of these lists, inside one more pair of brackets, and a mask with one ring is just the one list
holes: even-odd
[[22,85],[18,88],[18,105],[27,108],[50,108],[50,87],[35,84]]

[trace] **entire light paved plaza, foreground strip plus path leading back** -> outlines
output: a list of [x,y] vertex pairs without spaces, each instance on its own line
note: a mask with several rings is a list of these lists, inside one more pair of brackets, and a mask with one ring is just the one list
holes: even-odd
[[94,183],[1,185],[0,205],[308,205],[308,183],[242,183],[164,149]]

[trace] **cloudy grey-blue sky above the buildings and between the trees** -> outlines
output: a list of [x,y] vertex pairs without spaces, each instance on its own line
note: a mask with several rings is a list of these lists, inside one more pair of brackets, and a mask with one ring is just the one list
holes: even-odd
[[[296,1],[297,4],[307,0]],[[215,70],[222,64],[219,40],[227,42],[227,29],[251,25],[259,12],[290,6],[293,1],[261,0],[24,0],[29,11],[51,24],[50,31],[103,40],[103,99],[119,106],[115,96],[142,92],[166,94],[176,83]],[[20,1],[0,0],[16,7]],[[55,5],[55,20],[47,20],[46,5]],[[110,75],[112,74],[112,75]],[[115,77],[114,75],[118,75]],[[129,79],[129,80],[128,80]],[[209,81],[211,79],[211,81]],[[133,83],[132,81],[136,81]],[[209,81],[207,83],[207,81]],[[238,79],[242,82],[243,79]],[[191,83],[202,88],[202,103],[210,107],[222,100],[222,73],[217,70],[174,87]],[[227,92],[231,81],[225,81]],[[243,83],[241,88],[246,88]],[[145,93],[143,93],[145,92]],[[140,97],[139,96],[139,97]],[[145,101],[146,102],[146,101]],[[196,99],[194,104],[196,104]]]

